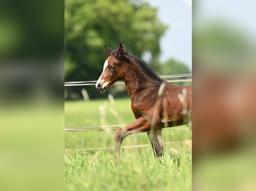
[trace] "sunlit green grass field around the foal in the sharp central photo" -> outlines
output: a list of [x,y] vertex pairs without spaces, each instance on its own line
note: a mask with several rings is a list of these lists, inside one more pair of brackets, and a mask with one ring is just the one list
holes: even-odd
[[[128,124],[135,120],[130,99],[66,101],[65,127]],[[191,140],[191,131],[164,129],[163,141]],[[165,144],[165,157],[154,158],[146,133],[130,135],[119,160],[114,149],[78,150],[114,146],[115,130],[65,131],[66,190],[191,190],[191,143]]]

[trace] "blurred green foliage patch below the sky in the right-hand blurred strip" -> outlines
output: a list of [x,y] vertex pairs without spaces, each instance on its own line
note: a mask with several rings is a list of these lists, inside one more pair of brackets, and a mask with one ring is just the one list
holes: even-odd
[[225,76],[251,71],[251,67],[255,66],[255,61],[251,60],[255,58],[255,48],[248,37],[243,28],[219,19],[200,28],[195,27],[192,38],[197,43],[193,44],[193,66],[208,67],[225,73]]

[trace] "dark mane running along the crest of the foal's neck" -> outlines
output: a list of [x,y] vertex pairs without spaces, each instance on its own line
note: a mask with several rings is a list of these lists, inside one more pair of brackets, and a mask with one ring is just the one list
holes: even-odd
[[142,68],[143,72],[145,72],[146,75],[153,77],[153,78],[154,78],[155,80],[157,80],[157,81],[160,81],[160,82],[163,81],[163,79],[161,79],[161,78],[148,66],[148,64],[147,64],[144,60],[138,58],[137,56],[134,56],[134,55],[131,54],[130,52],[126,52],[126,54],[127,54],[128,57],[132,58],[133,60],[135,60],[135,61],[139,64],[140,68]]

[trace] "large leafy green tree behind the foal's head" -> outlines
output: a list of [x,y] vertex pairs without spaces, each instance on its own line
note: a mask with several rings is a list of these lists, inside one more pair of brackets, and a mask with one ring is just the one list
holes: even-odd
[[[65,81],[97,80],[107,58],[104,44],[115,49],[122,42],[138,57],[149,51],[157,58],[166,29],[157,9],[142,1],[65,0]],[[95,87],[86,88],[91,98],[99,96]]]

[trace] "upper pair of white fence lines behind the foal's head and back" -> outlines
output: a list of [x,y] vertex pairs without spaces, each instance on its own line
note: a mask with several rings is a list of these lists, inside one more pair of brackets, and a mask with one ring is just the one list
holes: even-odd
[[[182,78],[182,77],[191,77],[192,74],[175,74],[175,75],[164,75],[160,76],[160,78],[163,79],[169,79],[169,78]],[[181,80],[167,80],[167,82],[190,82],[191,79],[181,79]],[[65,86],[91,86],[95,85],[97,81],[77,81],[77,82],[65,82]],[[115,84],[124,84],[123,82],[117,82]]]

